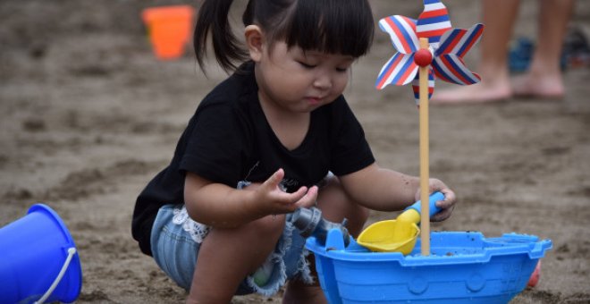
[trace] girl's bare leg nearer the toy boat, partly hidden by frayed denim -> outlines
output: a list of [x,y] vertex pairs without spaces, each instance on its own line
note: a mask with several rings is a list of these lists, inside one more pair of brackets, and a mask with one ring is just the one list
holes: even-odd
[[[347,229],[353,237],[357,237],[362,231],[369,215],[367,208],[356,204],[344,192],[337,178],[331,181],[320,190],[318,198],[318,207],[322,210],[322,215],[326,220],[340,223],[344,218],[348,219]],[[313,257],[310,257],[309,264],[312,274],[315,274],[315,263]],[[326,303],[324,292],[319,286],[317,280],[313,285],[307,285],[298,280],[291,280],[287,285],[287,290],[282,298],[283,304]]]

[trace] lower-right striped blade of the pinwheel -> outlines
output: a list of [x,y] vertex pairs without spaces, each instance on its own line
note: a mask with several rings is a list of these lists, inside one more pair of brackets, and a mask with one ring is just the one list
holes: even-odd
[[447,82],[470,85],[481,80],[479,75],[469,71],[459,55],[443,54],[436,56],[432,67],[436,77]]

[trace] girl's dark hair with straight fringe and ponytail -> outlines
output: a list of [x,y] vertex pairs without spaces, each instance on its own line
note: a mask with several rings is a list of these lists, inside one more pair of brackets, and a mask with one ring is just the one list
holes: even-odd
[[[228,19],[233,0],[205,0],[194,33],[195,55],[204,69],[207,37],[223,70],[249,54],[235,37]],[[288,47],[328,54],[366,55],[373,42],[374,20],[367,0],[249,0],[242,15],[244,26],[257,24],[269,44],[284,41]]]

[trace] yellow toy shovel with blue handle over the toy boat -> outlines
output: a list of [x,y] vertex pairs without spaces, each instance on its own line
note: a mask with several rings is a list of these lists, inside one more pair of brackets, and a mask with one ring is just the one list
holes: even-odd
[[[429,218],[441,211],[436,202],[443,200],[441,192],[434,192],[428,199]],[[408,255],[416,245],[420,229],[421,201],[407,207],[396,219],[377,222],[368,226],[358,235],[357,243],[367,249],[379,252],[401,252]]]

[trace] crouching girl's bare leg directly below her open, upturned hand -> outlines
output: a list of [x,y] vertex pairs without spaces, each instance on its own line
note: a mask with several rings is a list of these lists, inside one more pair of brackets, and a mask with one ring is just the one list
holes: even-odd
[[285,215],[268,215],[236,229],[213,229],[198,252],[187,303],[229,303],[241,281],[274,250]]

